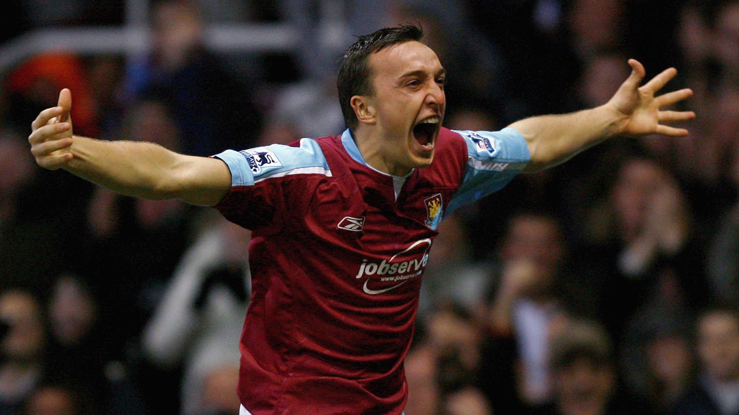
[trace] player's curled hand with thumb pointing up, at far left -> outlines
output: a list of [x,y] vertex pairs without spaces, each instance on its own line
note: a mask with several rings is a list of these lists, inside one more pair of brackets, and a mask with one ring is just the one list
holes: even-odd
[[31,154],[43,168],[56,170],[72,160],[72,92],[62,89],[57,106],[44,109],[31,123]]

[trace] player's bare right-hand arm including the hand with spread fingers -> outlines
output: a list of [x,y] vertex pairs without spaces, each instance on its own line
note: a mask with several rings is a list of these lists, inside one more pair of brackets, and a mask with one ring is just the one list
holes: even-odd
[[539,171],[568,160],[592,145],[609,137],[623,135],[636,137],[663,134],[682,137],[684,128],[663,123],[691,120],[695,113],[663,110],[692,95],[690,89],[680,89],[655,97],[655,94],[677,74],[674,68],[665,69],[643,86],[639,86],[646,72],[635,59],[629,60],[631,75],[621,84],[615,95],[604,105],[580,112],[562,115],[544,115],[526,118],[511,124],[526,139],[531,162],[525,171]]

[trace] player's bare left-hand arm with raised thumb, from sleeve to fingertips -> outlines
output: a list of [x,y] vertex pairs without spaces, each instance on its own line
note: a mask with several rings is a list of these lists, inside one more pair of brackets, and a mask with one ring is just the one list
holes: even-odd
[[28,141],[38,165],[65,170],[112,191],[145,199],[182,199],[214,206],[231,188],[224,162],[169,151],[161,145],[102,141],[72,134],[72,95],[62,89],[58,106],[31,124]]

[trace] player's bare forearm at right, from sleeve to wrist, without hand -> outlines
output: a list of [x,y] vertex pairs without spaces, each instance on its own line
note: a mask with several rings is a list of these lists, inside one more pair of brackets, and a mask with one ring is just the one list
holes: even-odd
[[557,165],[585,148],[619,134],[623,116],[609,104],[571,114],[542,115],[511,124],[526,139],[531,162],[525,171]]

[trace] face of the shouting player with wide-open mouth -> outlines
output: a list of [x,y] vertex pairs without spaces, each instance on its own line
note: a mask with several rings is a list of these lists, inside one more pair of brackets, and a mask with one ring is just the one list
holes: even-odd
[[384,140],[380,155],[388,173],[402,176],[430,165],[446,107],[446,71],[436,53],[408,41],[370,55],[369,68],[374,95],[367,102]]

